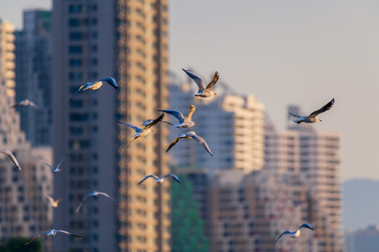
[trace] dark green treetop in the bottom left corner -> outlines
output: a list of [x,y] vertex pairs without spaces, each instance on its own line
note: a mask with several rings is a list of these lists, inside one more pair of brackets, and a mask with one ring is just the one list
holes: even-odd
[[29,241],[27,238],[11,238],[0,245],[0,252],[41,252],[41,243],[33,241],[31,244],[25,245]]

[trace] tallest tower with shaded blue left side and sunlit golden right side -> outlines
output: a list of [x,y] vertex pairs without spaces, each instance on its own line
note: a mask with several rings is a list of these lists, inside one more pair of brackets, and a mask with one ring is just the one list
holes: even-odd
[[[69,97],[88,82],[113,76],[105,85]],[[84,236],[56,237],[54,251],[170,251],[169,183],[146,181],[166,174],[166,125],[126,148],[133,130],[112,118],[139,125],[168,108],[168,1],[53,1],[54,160],[71,151],[55,176],[55,195],[64,197],[55,228]],[[109,199],[82,197],[93,190]]]

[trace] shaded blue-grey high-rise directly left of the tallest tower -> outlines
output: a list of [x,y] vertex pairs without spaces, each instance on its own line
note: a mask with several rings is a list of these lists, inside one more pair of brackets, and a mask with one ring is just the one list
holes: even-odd
[[33,146],[51,145],[51,11],[25,10],[22,30],[15,32],[15,100],[21,130]]

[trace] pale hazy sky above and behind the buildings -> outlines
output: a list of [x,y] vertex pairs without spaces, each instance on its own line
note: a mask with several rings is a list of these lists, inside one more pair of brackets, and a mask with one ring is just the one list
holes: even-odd
[[[191,67],[256,94],[286,126],[287,104],[310,113],[335,97],[314,125],[343,133],[344,180],[379,179],[379,1],[171,0],[171,69]],[[49,0],[0,1],[17,27],[23,8]]]

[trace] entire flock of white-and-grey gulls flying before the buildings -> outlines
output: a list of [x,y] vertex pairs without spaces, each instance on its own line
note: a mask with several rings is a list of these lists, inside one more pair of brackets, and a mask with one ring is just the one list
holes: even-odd
[[[191,71],[188,71],[188,70],[185,70],[185,69],[182,69],[183,71],[185,71],[185,73],[187,73],[187,75],[192,78],[192,80],[194,80],[194,82],[197,84],[197,86],[199,87],[199,90],[196,94],[194,94],[195,97],[201,97],[201,98],[206,98],[206,97],[211,97],[213,95],[215,95],[216,93],[212,90],[213,86],[218,82],[218,78],[219,78],[219,74],[218,72],[216,71],[215,72],[215,75],[213,76],[213,79],[211,80],[211,82],[205,86],[205,83],[204,83],[204,80],[201,79],[199,76],[197,76],[195,73],[192,73]],[[109,85],[111,85],[112,87],[114,87],[115,89],[117,89],[119,86],[117,85],[117,82],[116,80],[114,80],[114,78],[112,77],[107,77],[107,78],[102,78],[101,80],[96,80],[95,82],[93,83],[85,83],[84,85],[81,85],[81,87],[79,87],[79,90],[77,90],[77,92],[75,92],[72,97],[69,99],[69,102],[72,101],[72,99],[81,91],[85,91],[85,90],[98,90],[104,83],[108,83]],[[331,102],[328,102],[328,104],[326,104],[325,106],[323,106],[321,109],[317,110],[317,111],[314,111],[313,113],[311,113],[309,116],[298,116],[298,115],[294,115],[293,113],[290,113],[291,116],[294,116],[298,119],[294,119],[293,122],[294,123],[317,123],[319,121],[322,121],[320,118],[318,118],[317,116],[320,114],[320,113],[323,113],[325,111],[328,111],[329,109],[331,109],[331,107],[333,106],[335,100],[332,99]],[[17,106],[34,106],[35,108],[38,108],[36,106],[36,104],[34,104],[33,102],[30,102],[28,99],[25,99],[23,100],[22,102],[18,102],[16,104],[14,104],[13,106],[11,106],[11,108],[15,108]],[[121,125],[124,125],[126,127],[131,127],[134,131],[135,131],[135,134],[133,136],[131,136],[133,139],[131,140],[131,142],[128,144],[128,147],[131,146],[131,144],[133,143],[133,141],[135,141],[135,139],[138,139],[140,137],[145,137],[147,136],[147,134],[149,134],[150,132],[154,132],[154,130],[152,129],[152,127],[154,127],[154,125],[157,125],[157,123],[160,123],[160,122],[164,122],[164,123],[168,123],[170,125],[172,125],[173,127],[177,127],[177,128],[180,128],[180,129],[187,129],[189,127],[193,127],[196,125],[196,123],[194,123],[192,121],[192,115],[194,114],[194,111],[196,110],[195,106],[194,105],[190,105],[189,106],[189,113],[187,113],[187,116],[184,117],[183,114],[180,112],[180,111],[175,111],[175,110],[168,110],[168,109],[160,109],[159,112],[163,112],[161,113],[161,115],[156,118],[156,119],[148,119],[145,121],[145,123],[143,123],[142,125],[140,125],[140,127],[136,126],[136,125],[133,125],[131,123],[124,123],[124,122],[121,122],[120,120],[117,120],[117,119],[114,119],[117,123],[121,124]],[[169,123],[169,122],[166,122],[164,121],[164,114],[165,113],[168,113],[169,115],[171,116],[174,116],[176,119],[178,119],[178,123],[177,124],[172,124],[172,123]],[[208,147],[208,144],[206,144],[206,141],[199,137],[196,132],[194,131],[190,131],[190,132],[185,132],[183,134],[180,134],[178,137],[175,137],[175,139],[173,140],[173,142],[170,144],[170,146],[168,146],[167,150],[166,150],[166,153],[168,151],[171,150],[171,148],[173,148],[173,146],[175,146],[175,144],[178,144],[178,141],[180,139],[194,139],[196,140],[199,144],[201,144],[201,146],[204,147],[204,149],[211,155],[213,156],[212,152],[211,152],[211,149]],[[11,161],[13,162],[13,164],[15,165],[15,167],[17,167],[17,169],[21,172],[21,167],[20,165],[18,164],[18,161],[16,160],[15,156],[13,155],[13,153],[11,153],[11,151],[8,151],[8,150],[5,150],[5,149],[0,149],[0,153],[3,153],[5,155],[7,155]],[[64,162],[67,157],[72,153],[72,151],[70,151],[69,153],[67,153],[59,162],[57,165],[55,165],[55,167],[52,167],[51,165],[49,165],[47,162],[45,162],[44,160],[40,160],[39,158],[36,158],[36,157],[33,157],[35,158],[36,160],[38,160],[39,162],[42,162],[44,163],[44,165],[48,166],[51,168],[51,171],[53,173],[58,173],[60,172],[60,165],[62,165],[62,162]],[[149,178],[153,178],[155,182],[157,183],[163,183],[164,180],[168,177],[171,177],[172,179],[174,179],[175,181],[177,181],[178,183],[182,183],[182,181],[180,181],[180,179],[178,178],[178,176],[176,176],[175,174],[167,174],[166,176],[157,176],[155,174],[150,174],[148,176],[145,176],[145,178],[143,178],[140,182],[138,182],[138,184],[140,185],[141,183],[143,183],[145,180],[149,179]],[[107,193],[104,193],[104,192],[98,192],[98,191],[93,191],[92,193],[88,193],[88,195],[86,195],[83,200],[81,201],[81,203],[79,204],[79,207],[77,207],[76,209],[76,212],[79,211],[79,209],[81,208],[81,206],[84,204],[84,202],[89,198],[89,197],[98,197],[99,195],[102,195],[102,196],[105,196],[105,197],[108,197],[110,199],[112,199],[112,197],[110,197]],[[54,200],[53,197],[50,197],[48,195],[44,195],[46,197],[46,199],[48,200],[49,202],[49,206],[51,207],[58,207],[58,204],[59,202],[61,202],[63,199],[60,198],[58,200]],[[113,200],[113,199],[112,199]],[[291,235],[290,237],[291,238],[296,238],[296,237],[299,237],[300,236],[300,229],[301,228],[308,228],[310,230],[314,230],[314,228],[312,227],[312,225],[310,224],[307,224],[307,223],[304,223],[300,226],[300,228],[298,228],[298,230],[295,230],[293,232],[291,231],[284,231],[281,233],[281,235],[279,235],[279,237],[277,237],[277,239],[274,241],[273,245],[277,243],[277,241],[283,236],[283,235]],[[73,237],[76,237],[78,239],[84,239],[83,237],[79,237],[77,235],[74,235],[70,232],[67,232],[65,230],[48,230],[46,232],[42,232],[40,235],[34,237],[33,239],[27,241],[27,243],[25,243],[25,245],[31,243],[32,241],[38,239],[39,237],[41,237],[42,235],[48,235],[48,236],[55,236],[58,232],[60,233],[63,233],[65,235],[72,235]]]

